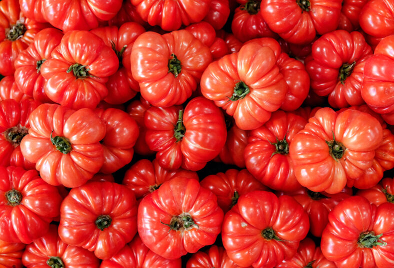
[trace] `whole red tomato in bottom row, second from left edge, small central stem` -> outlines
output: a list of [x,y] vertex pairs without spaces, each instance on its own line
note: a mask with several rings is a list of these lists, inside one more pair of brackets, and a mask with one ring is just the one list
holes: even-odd
[[59,236],[68,245],[113,257],[137,232],[137,205],[125,186],[90,182],[71,189],[60,208]]

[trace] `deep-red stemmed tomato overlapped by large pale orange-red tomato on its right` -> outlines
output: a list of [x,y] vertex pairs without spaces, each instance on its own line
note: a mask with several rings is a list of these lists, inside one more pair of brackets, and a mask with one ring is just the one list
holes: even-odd
[[247,170],[274,190],[299,189],[301,186],[288,151],[295,134],[306,123],[305,119],[293,113],[273,112],[263,126],[249,132],[244,153]]

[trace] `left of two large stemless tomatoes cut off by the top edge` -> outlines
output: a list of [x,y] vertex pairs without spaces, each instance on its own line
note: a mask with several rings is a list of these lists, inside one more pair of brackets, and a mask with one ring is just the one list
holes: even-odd
[[90,30],[97,28],[100,20],[112,18],[121,4],[122,0],[43,0],[42,14],[64,32]]

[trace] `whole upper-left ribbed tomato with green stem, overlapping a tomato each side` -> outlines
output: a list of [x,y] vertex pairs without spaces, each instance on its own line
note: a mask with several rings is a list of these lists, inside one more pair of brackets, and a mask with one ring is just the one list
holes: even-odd
[[112,48],[95,34],[69,31],[41,65],[45,94],[62,106],[93,109],[108,94],[105,82],[118,62]]

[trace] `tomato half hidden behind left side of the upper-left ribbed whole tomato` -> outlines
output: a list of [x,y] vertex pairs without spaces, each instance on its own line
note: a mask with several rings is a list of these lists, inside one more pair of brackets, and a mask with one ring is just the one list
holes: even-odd
[[50,58],[52,50],[60,44],[63,33],[54,28],[39,31],[33,42],[15,59],[15,82],[26,95],[40,102],[51,102],[44,92],[45,80],[41,64]]

